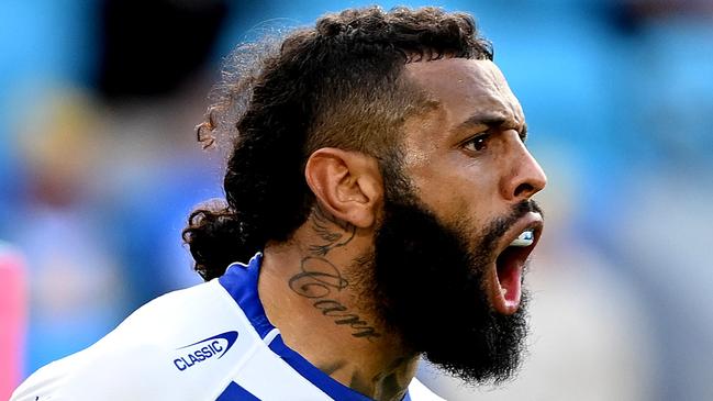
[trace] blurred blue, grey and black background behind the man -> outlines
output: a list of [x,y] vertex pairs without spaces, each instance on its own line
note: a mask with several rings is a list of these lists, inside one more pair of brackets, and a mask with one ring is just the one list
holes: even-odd
[[[193,126],[231,48],[371,3],[0,3],[0,399],[200,281],[180,231],[222,194],[223,156]],[[519,379],[422,381],[448,400],[713,399],[713,2],[379,4],[476,16],[549,176]]]

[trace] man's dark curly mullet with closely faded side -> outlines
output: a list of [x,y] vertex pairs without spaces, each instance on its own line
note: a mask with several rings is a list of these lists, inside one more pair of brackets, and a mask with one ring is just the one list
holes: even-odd
[[197,127],[204,146],[233,138],[225,201],[199,207],[183,230],[203,279],[304,223],[314,194],[303,171],[315,149],[361,152],[388,169],[403,122],[430,104],[401,73],[442,57],[492,59],[492,48],[468,14],[378,7],[324,15],[272,46],[239,45]]

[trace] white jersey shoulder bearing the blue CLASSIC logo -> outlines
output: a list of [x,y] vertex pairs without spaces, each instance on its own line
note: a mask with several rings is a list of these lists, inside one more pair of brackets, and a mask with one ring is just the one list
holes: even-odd
[[249,343],[248,326],[218,280],[170,292],[89,348],[37,370],[11,400],[204,398],[229,380],[236,350],[249,348],[234,344],[238,333]]

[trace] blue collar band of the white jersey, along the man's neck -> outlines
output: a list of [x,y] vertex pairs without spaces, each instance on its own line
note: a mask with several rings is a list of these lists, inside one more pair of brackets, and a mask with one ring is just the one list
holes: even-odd
[[[229,266],[225,274],[219,278],[221,286],[233,297],[245,315],[253,324],[261,338],[272,331],[275,326],[267,320],[265,309],[257,293],[257,278],[260,271],[263,254],[258,253],[246,265],[233,264]],[[317,369],[300,354],[292,350],[283,342],[281,336],[275,337],[269,344],[270,349],[287,361],[298,374],[312,382],[320,390],[324,391],[334,400],[339,401],[371,401],[370,398],[360,394],[350,388],[334,380],[322,370]]]

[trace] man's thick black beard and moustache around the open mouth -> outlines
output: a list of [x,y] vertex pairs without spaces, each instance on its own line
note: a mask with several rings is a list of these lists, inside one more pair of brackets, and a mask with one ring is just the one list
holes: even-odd
[[385,178],[383,220],[374,254],[364,260],[372,268],[361,270],[371,271],[367,282],[376,315],[406,347],[469,385],[510,379],[524,350],[527,293],[523,290],[514,314],[498,313],[484,290],[486,272],[502,235],[539,208],[522,202],[474,237],[468,221],[441,222],[408,180]]

